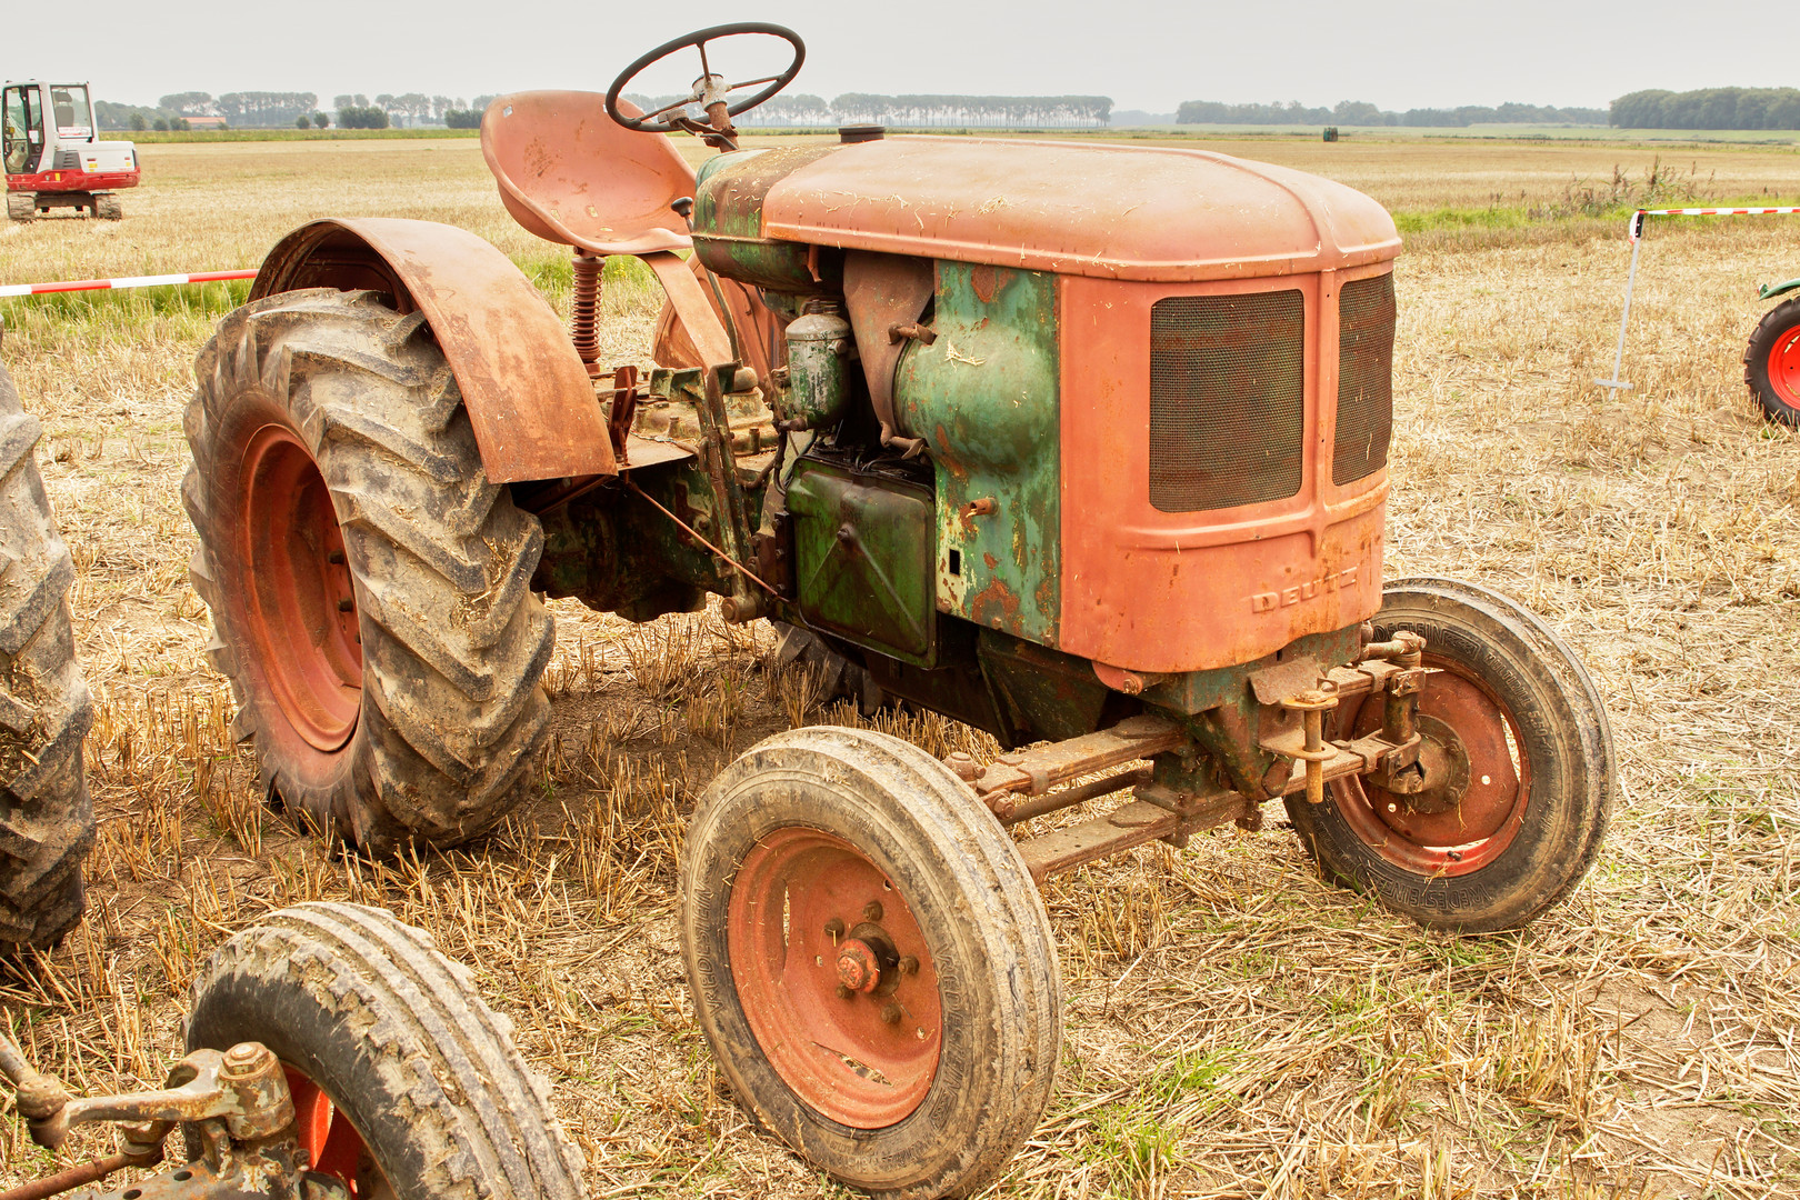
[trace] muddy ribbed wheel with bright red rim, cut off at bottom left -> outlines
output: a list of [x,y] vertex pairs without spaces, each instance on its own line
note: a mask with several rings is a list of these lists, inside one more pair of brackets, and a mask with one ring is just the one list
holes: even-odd
[[313,1169],[358,1200],[580,1200],[581,1155],[468,972],[387,912],[284,909],[194,979],[187,1049],[281,1060]]

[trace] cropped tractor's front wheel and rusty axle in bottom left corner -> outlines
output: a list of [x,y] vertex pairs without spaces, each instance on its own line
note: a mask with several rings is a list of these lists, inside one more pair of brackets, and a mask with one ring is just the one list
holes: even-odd
[[[581,1153],[466,968],[387,912],[270,914],[200,970],[157,1092],[72,1097],[0,1034],[32,1141],[121,1123],[121,1150],[0,1193],[43,1200],[583,1200]],[[176,1166],[124,1187],[115,1171]],[[79,1189],[79,1191],[76,1191]]]

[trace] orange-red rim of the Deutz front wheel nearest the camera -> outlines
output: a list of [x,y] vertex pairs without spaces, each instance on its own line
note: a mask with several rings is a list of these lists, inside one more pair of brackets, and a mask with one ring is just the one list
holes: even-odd
[[[943,1043],[938,972],[880,867],[830,833],[776,829],[738,867],[725,921],[743,1015],[803,1103],[859,1130],[923,1103]],[[841,995],[844,979],[864,990]]]

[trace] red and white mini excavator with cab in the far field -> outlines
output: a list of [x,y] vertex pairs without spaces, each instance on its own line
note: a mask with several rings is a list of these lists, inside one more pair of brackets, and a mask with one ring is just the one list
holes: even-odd
[[117,221],[119,193],[137,187],[137,148],[103,142],[85,83],[11,83],[0,92],[5,214],[29,221],[50,209]]

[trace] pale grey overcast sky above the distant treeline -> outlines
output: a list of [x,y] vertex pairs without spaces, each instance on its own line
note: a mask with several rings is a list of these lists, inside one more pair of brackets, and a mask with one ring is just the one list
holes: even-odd
[[[826,99],[1082,94],[1147,112],[1186,99],[1604,108],[1640,88],[1800,85],[1800,5],[1753,7],[1755,18],[1705,0],[22,2],[7,4],[0,74],[88,79],[95,99],[133,104],[173,92],[315,92],[322,106],[355,92],[605,92],[662,41],[760,20],[799,32],[806,65],[790,90]],[[745,70],[758,70],[751,58]],[[697,74],[689,67],[680,74]],[[736,63],[713,67],[738,74]],[[652,94],[677,90],[648,83]]]

